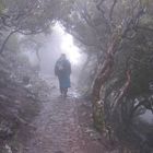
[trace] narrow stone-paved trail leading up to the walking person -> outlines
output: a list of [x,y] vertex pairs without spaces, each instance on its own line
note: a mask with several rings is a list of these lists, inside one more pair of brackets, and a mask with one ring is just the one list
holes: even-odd
[[67,99],[51,94],[33,122],[36,131],[24,153],[103,153],[103,145],[83,133],[75,93]]

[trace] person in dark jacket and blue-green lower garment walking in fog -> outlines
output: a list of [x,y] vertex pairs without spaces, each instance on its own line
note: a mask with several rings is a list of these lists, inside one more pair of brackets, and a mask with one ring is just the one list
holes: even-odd
[[59,79],[61,96],[67,97],[68,89],[71,87],[70,83],[71,63],[67,59],[67,56],[64,54],[62,54],[56,62],[55,74]]

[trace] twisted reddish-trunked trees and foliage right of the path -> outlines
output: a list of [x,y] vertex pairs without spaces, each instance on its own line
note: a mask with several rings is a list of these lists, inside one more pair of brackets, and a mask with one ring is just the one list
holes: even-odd
[[[128,142],[137,149],[141,148],[137,145],[138,141],[146,142],[140,138],[142,131],[132,125],[134,114],[141,106],[152,109],[149,105],[152,103],[149,101],[149,84],[153,78],[150,62],[153,49],[152,8],[151,0],[76,0],[71,14],[61,20],[67,31],[86,46],[89,52],[97,55],[98,68],[92,96],[94,108],[99,108],[94,109],[98,129],[99,123],[102,131],[108,128],[122,145]],[[136,107],[138,96],[142,96],[145,103],[139,101]],[[150,150],[148,144],[145,148]]]

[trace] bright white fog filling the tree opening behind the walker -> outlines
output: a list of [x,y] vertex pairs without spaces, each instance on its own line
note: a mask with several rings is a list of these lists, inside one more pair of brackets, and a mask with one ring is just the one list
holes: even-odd
[[[24,36],[23,36],[24,37]],[[21,38],[23,38],[21,36]],[[50,34],[37,35],[40,39],[42,45],[39,46],[39,57],[37,58],[35,47],[23,47],[24,55],[27,56],[32,66],[39,64],[40,75],[55,76],[54,68],[55,63],[61,54],[66,54],[67,58],[72,66],[72,80],[73,83],[76,82],[81,68],[86,60],[86,55],[83,50],[74,44],[72,35],[64,32],[64,28],[57,23],[52,28]],[[36,39],[37,39],[36,38]]]

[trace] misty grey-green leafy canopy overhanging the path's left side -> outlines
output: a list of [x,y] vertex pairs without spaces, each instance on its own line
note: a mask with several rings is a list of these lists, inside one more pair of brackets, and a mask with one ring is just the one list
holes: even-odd
[[48,33],[50,25],[70,10],[67,0],[4,0],[3,4],[4,9],[0,15],[0,34],[3,36],[5,32],[9,34],[2,42],[0,52],[3,51],[8,39],[13,34]]

